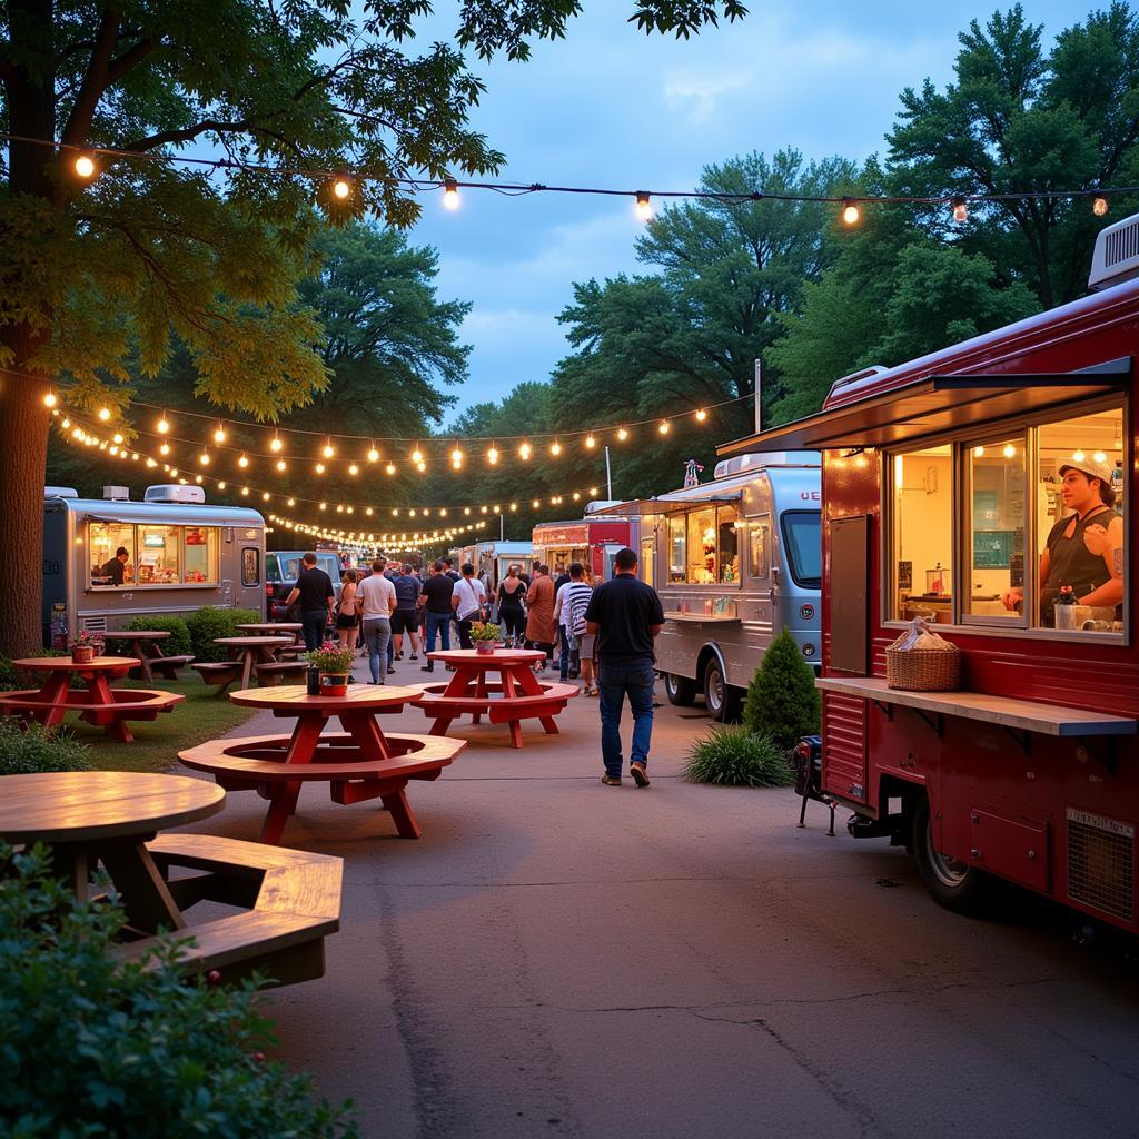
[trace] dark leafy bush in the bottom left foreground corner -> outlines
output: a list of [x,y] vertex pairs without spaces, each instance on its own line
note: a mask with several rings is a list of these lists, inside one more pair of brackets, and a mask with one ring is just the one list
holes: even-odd
[[0,849],[0,1133],[17,1139],[358,1139],[265,1059],[252,988],[187,983],[170,945],[120,965],[120,909],[76,901],[42,846]]

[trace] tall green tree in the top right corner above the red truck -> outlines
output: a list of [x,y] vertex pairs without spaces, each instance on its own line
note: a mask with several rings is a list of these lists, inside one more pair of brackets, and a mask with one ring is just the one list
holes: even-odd
[[[957,82],[907,88],[887,136],[901,194],[1093,190],[1132,185],[1139,169],[1139,22],[1113,0],[1062,32],[1051,52],[1019,3],[959,36]],[[1122,200],[1114,206],[1124,207]],[[1049,309],[1082,295],[1096,232],[1087,198],[1023,198],[974,205],[952,229],[967,253],[994,259]],[[926,231],[944,239],[939,207]]]

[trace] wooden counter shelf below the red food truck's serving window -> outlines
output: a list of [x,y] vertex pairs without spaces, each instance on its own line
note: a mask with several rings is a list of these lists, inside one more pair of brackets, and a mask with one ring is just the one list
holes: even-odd
[[1013,699],[992,693],[911,693],[888,688],[884,677],[821,677],[814,686],[827,693],[861,696],[879,704],[901,704],[1044,736],[1133,736],[1139,728],[1133,716]]

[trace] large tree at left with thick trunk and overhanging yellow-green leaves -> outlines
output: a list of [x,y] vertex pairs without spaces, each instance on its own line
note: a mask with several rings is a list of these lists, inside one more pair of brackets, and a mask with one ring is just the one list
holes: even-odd
[[[196,392],[273,420],[327,386],[320,328],[296,282],[320,207],[338,221],[374,211],[411,222],[398,179],[497,170],[502,155],[470,129],[482,83],[464,50],[528,56],[556,39],[577,0],[464,0],[454,43],[404,47],[431,0],[287,5],[243,0],[7,0],[0,7],[0,546],[34,564],[48,412],[69,399],[121,416],[129,364],[155,375],[177,335]],[[634,0],[646,32],[698,32],[744,15],[738,0]],[[59,149],[56,145],[59,144]],[[178,158],[199,144],[232,165]],[[156,161],[95,155],[93,147]],[[328,178],[366,170],[343,204]],[[28,572],[27,577],[36,580]],[[0,598],[0,649],[38,639],[36,587]]]

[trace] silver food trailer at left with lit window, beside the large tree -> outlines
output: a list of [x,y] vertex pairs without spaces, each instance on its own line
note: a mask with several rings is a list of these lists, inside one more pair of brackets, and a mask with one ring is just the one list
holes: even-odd
[[200,486],[148,486],[141,502],[129,495],[125,486],[104,487],[103,499],[44,487],[44,645],[203,605],[264,613],[265,523],[256,510],[206,506]]

